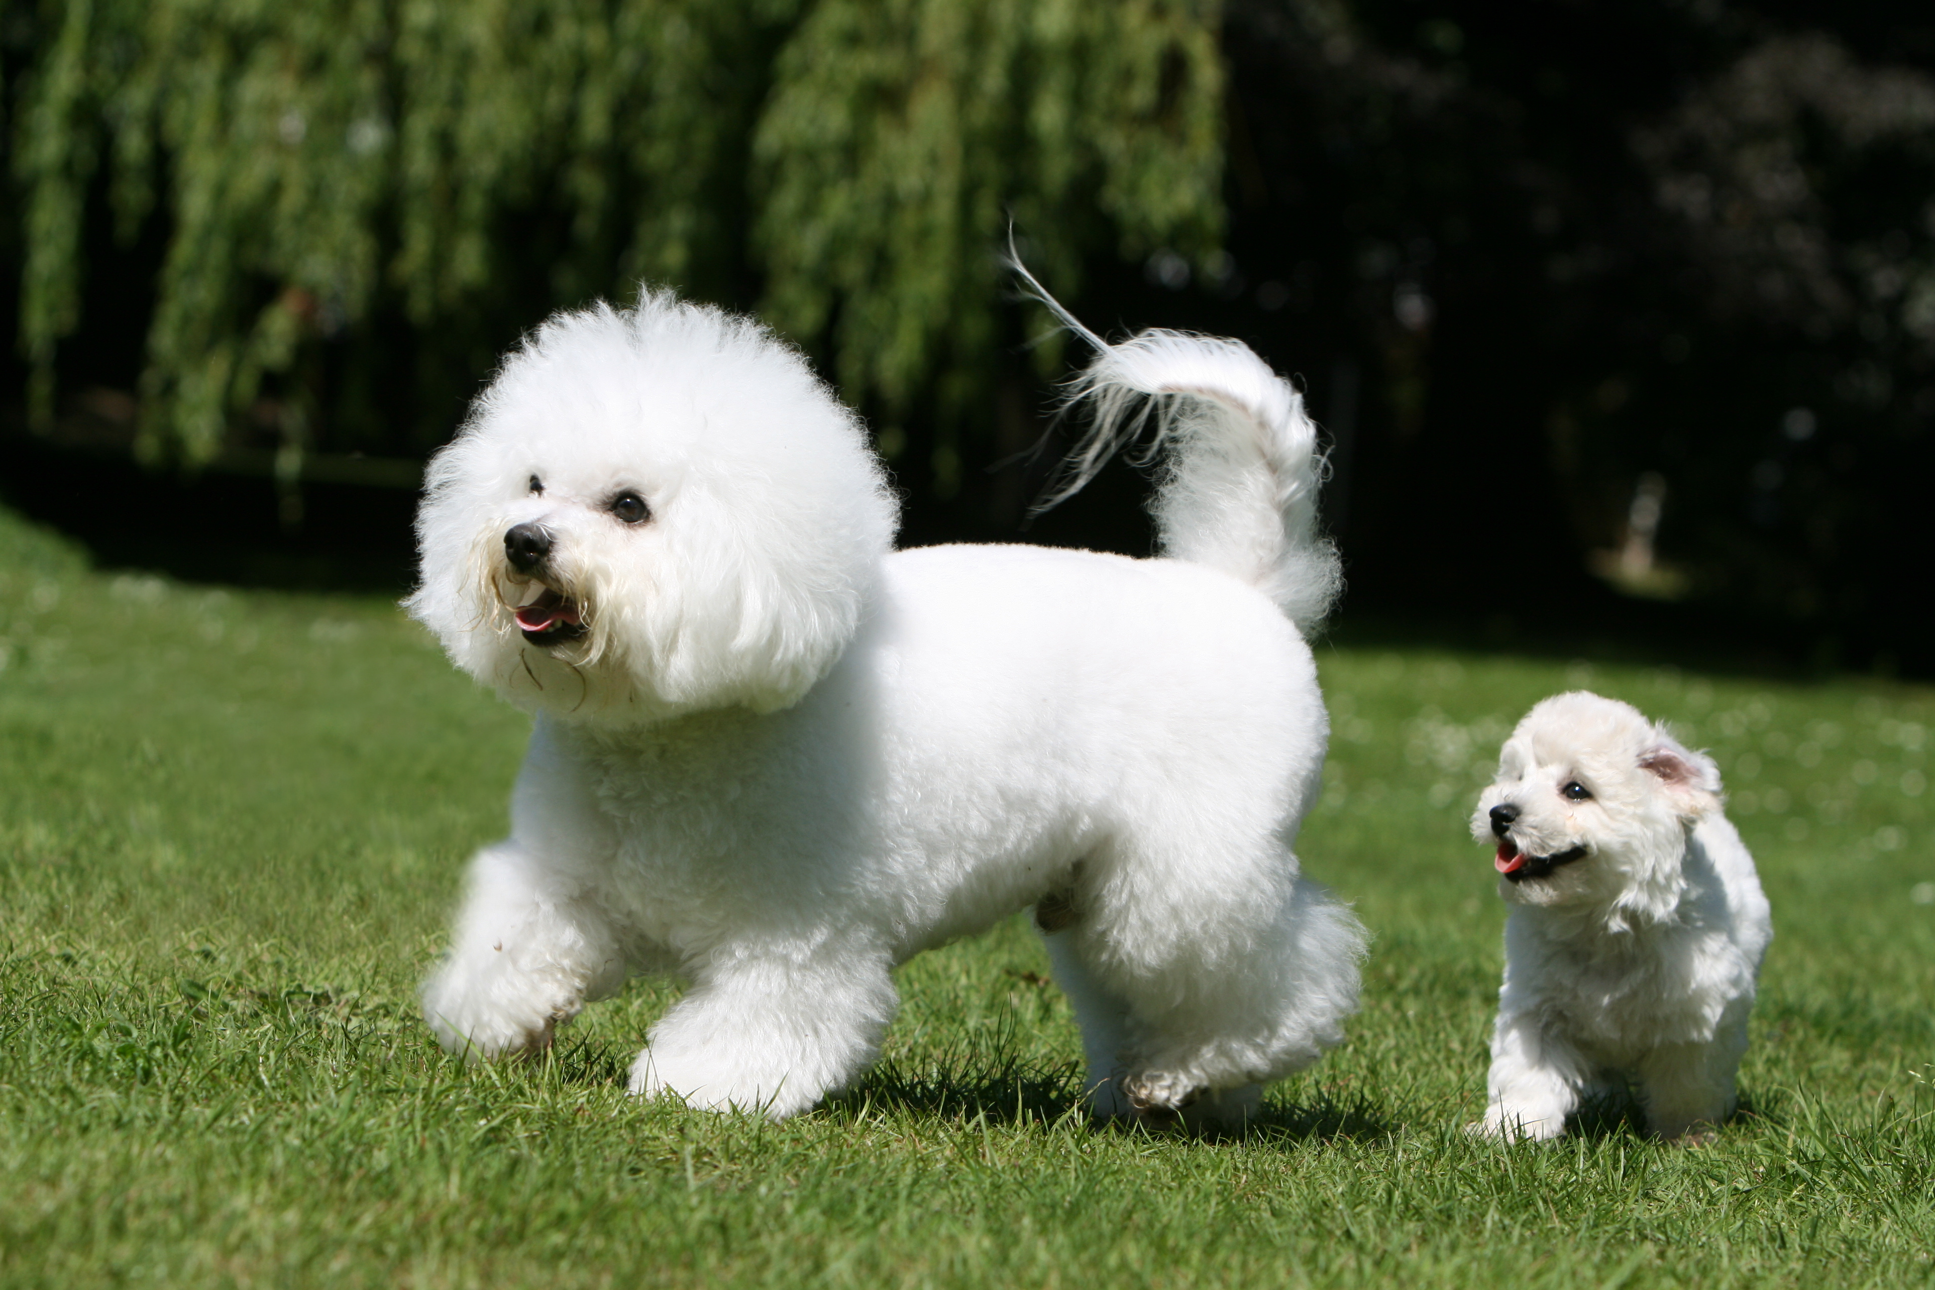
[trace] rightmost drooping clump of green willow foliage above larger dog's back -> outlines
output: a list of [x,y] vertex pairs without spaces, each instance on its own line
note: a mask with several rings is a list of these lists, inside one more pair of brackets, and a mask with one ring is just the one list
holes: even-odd
[[1068,288],[1087,251],[1209,246],[1221,89],[1190,6],[817,6],[755,139],[772,317],[813,337],[838,313],[840,383],[896,412],[981,375],[1006,277],[987,230],[1012,219]]

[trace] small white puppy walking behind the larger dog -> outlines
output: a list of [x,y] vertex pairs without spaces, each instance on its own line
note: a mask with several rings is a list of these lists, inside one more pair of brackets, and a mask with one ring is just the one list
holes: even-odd
[[1505,741],[1471,832],[1498,841],[1511,905],[1474,1128],[1558,1137],[1622,1077],[1660,1137],[1724,1120],[1774,930],[1712,758],[1627,704],[1556,694]]

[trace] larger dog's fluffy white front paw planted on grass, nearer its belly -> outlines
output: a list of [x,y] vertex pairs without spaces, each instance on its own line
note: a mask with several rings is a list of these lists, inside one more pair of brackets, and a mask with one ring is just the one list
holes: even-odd
[[631,1068],[633,1093],[782,1120],[867,1070],[900,1006],[882,953],[819,948],[712,959],[652,1027]]

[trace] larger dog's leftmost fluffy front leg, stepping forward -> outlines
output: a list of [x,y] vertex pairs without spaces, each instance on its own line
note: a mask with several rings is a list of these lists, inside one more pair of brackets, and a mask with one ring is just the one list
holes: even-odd
[[424,1019],[470,1062],[536,1052],[586,996],[623,981],[604,915],[517,841],[501,841],[470,863],[451,952],[424,982]]

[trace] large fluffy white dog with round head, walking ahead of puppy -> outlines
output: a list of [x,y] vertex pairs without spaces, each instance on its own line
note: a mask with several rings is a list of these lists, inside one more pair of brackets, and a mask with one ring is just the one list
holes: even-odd
[[540,1048],[666,971],[633,1091],[788,1116],[875,1058],[896,963],[1029,903],[1103,1112],[1240,1120],[1339,1042],[1362,930],[1291,851],[1327,735],[1298,627],[1337,584],[1312,425],[1236,342],[1099,354],[1082,462],[1155,414],[1167,559],[896,553],[855,416],[670,294],[505,360],[406,601],[536,714],[424,986],[447,1048]]

